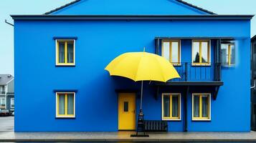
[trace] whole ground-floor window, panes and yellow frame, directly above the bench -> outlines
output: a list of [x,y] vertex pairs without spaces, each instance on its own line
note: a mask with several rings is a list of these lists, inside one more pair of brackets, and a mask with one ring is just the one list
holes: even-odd
[[166,93],[162,95],[162,119],[181,119],[181,94]]

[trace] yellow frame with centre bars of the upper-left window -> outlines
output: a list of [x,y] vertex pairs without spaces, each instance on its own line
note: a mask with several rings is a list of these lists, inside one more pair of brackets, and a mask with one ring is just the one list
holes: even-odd
[[[72,41],[73,42],[73,62],[72,63],[67,63],[67,42]],[[59,43],[60,42],[65,42],[65,58],[64,58],[64,63],[60,63],[59,61]],[[75,39],[56,39],[56,65],[57,66],[74,66],[75,65]]]

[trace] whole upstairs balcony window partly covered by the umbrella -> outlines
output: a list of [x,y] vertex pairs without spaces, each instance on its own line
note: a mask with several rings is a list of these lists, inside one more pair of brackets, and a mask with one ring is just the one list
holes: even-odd
[[163,40],[162,56],[174,65],[181,63],[181,42],[180,40]]

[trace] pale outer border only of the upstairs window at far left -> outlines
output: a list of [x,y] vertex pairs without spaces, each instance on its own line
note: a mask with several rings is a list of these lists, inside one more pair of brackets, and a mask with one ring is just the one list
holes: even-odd
[[[59,51],[59,49],[58,49],[58,41],[73,41],[74,42],[74,63],[59,63],[58,61],[59,61],[59,59],[58,59],[58,52],[57,51]],[[55,63],[56,63],[56,66],[75,66],[75,39],[55,39],[55,57],[56,57],[56,59],[55,59]]]

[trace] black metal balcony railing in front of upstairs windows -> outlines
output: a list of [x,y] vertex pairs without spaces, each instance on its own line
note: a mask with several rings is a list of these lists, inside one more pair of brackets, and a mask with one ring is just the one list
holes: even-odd
[[174,64],[176,71],[178,71],[181,79],[171,79],[170,82],[207,82],[221,80],[221,64],[193,64],[180,63]]

